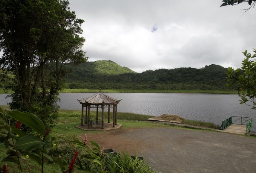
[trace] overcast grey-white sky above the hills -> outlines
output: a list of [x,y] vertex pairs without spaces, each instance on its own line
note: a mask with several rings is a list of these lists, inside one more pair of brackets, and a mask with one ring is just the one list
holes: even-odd
[[256,8],[221,0],[70,0],[85,22],[88,61],[111,60],[134,71],[218,64],[241,67],[256,48]]

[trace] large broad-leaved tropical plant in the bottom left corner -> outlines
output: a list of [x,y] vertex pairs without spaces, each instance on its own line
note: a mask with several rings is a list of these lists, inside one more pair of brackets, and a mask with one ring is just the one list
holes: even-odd
[[[17,121],[15,126],[10,125],[8,116]],[[21,129],[21,123],[30,127],[37,135],[27,135]],[[50,129],[45,128],[43,121],[37,115],[20,111],[5,112],[0,108],[0,131],[1,139],[9,147],[8,156],[2,161],[17,163],[22,172],[20,158],[25,155],[26,158],[37,161],[43,173],[44,158],[52,161],[52,158],[44,152]]]

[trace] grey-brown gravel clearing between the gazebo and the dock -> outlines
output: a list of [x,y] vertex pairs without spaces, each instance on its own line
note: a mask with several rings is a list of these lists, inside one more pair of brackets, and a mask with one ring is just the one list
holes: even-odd
[[128,151],[155,170],[171,172],[256,172],[256,139],[223,132],[156,127],[90,135],[105,148]]

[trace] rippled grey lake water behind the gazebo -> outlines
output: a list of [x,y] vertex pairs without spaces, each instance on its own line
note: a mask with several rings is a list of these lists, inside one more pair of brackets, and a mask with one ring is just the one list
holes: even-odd
[[[5,99],[7,94],[0,94],[0,105],[6,105],[11,99]],[[60,94],[60,109],[81,109],[77,99],[83,99],[93,93]],[[159,116],[176,114],[191,120],[213,122],[221,125],[222,120],[234,116],[254,118],[256,111],[246,105],[240,105],[237,95],[224,94],[167,94],[167,93],[108,93],[116,99],[122,99],[118,104],[120,112],[134,112]],[[256,123],[253,124],[256,130]]]

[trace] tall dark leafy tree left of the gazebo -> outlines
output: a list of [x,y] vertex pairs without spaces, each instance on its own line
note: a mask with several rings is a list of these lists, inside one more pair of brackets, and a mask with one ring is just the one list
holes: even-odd
[[[81,24],[67,0],[5,0],[0,4],[0,66],[14,74],[10,107],[51,124],[63,77],[85,62]],[[69,66],[64,69],[64,66]]]

